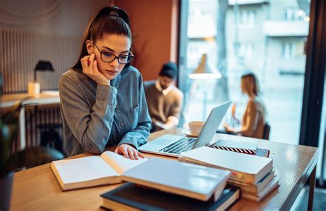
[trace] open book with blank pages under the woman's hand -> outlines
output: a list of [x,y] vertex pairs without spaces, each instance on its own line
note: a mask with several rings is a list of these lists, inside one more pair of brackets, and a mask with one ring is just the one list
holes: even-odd
[[127,159],[110,151],[100,156],[54,161],[51,168],[63,190],[120,183],[120,175],[148,159]]

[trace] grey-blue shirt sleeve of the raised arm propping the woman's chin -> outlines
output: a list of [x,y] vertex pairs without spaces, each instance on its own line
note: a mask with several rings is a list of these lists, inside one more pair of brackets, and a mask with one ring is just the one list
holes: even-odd
[[[111,134],[117,89],[97,85],[96,101],[89,107],[78,83],[61,76],[59,80],[61,112],[76,140],[90,153],[102,153]],[[67,140],[69,141],[69,140]]]

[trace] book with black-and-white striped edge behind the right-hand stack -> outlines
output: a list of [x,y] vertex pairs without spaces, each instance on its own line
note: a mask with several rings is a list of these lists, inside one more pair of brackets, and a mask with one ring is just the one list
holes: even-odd
[[221,150],[232,151],[236,153],[246,153],[249,155],[255,155],[257,152],[257,144],[218,140],[214,144],[210,145],[212,148],[218,148]]

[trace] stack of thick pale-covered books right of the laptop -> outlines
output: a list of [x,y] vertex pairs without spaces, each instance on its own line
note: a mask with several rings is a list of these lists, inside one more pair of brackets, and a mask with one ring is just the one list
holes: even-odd
[[279,177],[275,177],[273,160],[268,157],[202,146],[182,153],[179,160],[230,170],[228,184],[241,188],[242,198],[250,201],[262,201],[279,187]]

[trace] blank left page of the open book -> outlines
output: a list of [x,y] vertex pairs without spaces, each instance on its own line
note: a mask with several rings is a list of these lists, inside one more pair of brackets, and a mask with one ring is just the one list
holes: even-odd
[[64,184],[89,181],[102,177],[119,176],[99,156],[63,159],[54,162]]

